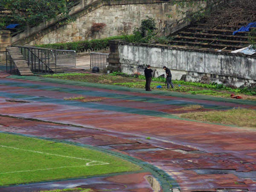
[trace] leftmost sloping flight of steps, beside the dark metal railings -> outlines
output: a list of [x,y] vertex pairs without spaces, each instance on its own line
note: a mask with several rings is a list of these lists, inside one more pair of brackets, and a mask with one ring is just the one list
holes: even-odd
[[12,58],[21,76],[33,75],[33,73],[31,72],[27,62],[24,60],[23,55],[21,54],[20,49],[18,47],[8,47],[6,48],[6,51],[9,52],[10,57]]

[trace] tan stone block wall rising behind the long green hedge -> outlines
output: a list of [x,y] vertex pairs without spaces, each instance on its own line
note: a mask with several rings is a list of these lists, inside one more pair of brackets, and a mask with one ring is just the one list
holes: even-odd
[[[198,1],[198,3],[206,6],[206,2],[202,0],[193,1]],[[159,23],[160,20],[171,23],[181,17],[186,17],[186,15],[180,16],[178,14],[180,9],[172,6],[171,0],[92,0],[90,2],[90,4],[85,4],[84,9],[76,14],[76,21],[64,26],[55,23],[47,29],[44,29],[45,24],[42,24],[42,30],[38,26],[37,33],[36,30],[32,29],[36,33],[34,36],[23,38],[22,41],[17,41],[17,38],[14,37],[13,42],[16,42],[15,44],[34,45],[99,38],[96,33],[87,35],[92,23],[105,23],[107,25],[101,33],[101,38],[106,38],[120,35],[123,31],[123,21],[132,23],[131,34],[133,28],[140,26],[141,20],[145,19],[146,15],[155,18],[156,23]],[[166,14],[172,15],[172,18],[166,17]],[[159,28],[159,26],[157,27]]]

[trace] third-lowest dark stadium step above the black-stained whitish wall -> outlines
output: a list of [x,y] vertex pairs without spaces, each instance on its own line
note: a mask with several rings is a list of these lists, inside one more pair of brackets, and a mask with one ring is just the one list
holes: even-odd
[[199,38],[218,38],[226,39],[231,41],[248,41],[248,36],[237,36],[237,35],[221,35],[221,34],[212,34],[204,32],[186,32],[181,31],[178,33],[180,36],[189,36],[189,37],[199,37]]

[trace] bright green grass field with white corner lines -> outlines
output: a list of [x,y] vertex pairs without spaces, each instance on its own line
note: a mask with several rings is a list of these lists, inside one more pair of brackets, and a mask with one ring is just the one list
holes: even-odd
[[0,133],[0,186],[141,168],[83,147]]

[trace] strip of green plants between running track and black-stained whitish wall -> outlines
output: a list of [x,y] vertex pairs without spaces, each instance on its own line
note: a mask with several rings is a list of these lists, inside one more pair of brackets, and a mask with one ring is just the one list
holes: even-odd
[[[83,82],[92,82],[92,83],[102,83],[102,84],[112,84],[120,85],[126,87],[134,88],[145,88],[145,76],[139,75],[139,73],[128,75],[120,72],[113,72],[109,75],[93,75],[93,74],[84,74],[84,73],[64,73],[64,74],[54,74],[54,75],[44,75],[44,77],[51,77],[56,79],[65,79],[73,81],[83,81]],[[151,89],[157,90],[167,90],[165,85],[166,79],[163,77],[152,78]],[[202,84],[198,82],[188,82],[173,80],[175,86],[171,91],[184,92],[190,94],[203,94],[211,96],[221,96],[221,97],[230,97],[231,93],[235,94],[248,94],[253,95],[253,91],[244,88],[244,89],[232,89],[226,87],[223,84]],[[158,85],[161,85],[162,88],[157,88]],[[244,99],[255,100],[255,96],[242,96]]]

